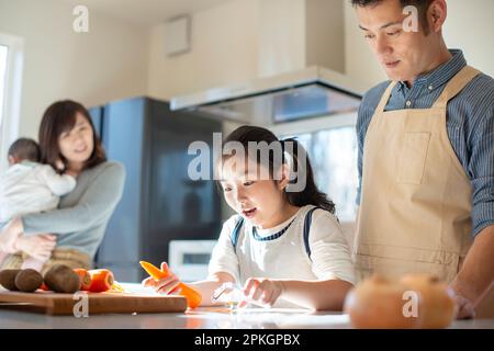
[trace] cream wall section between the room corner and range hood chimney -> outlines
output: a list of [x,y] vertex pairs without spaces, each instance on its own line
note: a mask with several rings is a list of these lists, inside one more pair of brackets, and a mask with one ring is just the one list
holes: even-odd
[[150,35],[148,92],[169,99],[257,73],[257,0],[232,0],[192,15],[192,49],[165,54],[165,25]]

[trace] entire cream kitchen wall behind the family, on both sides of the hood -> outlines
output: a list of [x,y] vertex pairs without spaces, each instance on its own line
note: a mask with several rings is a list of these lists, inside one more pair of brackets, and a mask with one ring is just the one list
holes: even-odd
[[[194,13],[191,52],[167,57],[164,25],[146,30],[90,12],[90,32],[77,34],[72,7],[64,1],[0,0],[0,32],[25,38],[20,133],[36,137],[43,111],[58,99],[87,105],[143,94],[170,99],[262,76],[261,1],[231,0]],[[386,77],[349,0],[340,1],[346,72],[370,88]],[[447,44],[494,76],[494,1],[448,0],[448,7]],[[332,45],[330,39],[322,45]]]

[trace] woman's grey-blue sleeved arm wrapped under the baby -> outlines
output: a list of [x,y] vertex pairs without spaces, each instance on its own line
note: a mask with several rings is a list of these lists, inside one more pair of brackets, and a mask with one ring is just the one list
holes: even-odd
[[22,231],[25,235],[64,235],[90,228],[113,213],[122,197],[124,181],[124,167],[112,162],[88,185],[75,206],[25,215],[22,217]]

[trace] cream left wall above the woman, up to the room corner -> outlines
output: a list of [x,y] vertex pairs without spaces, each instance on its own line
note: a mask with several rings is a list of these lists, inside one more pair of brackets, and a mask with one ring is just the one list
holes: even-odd
[[20,134],[37,138],[44,110],[74,99],[90,106],[147,91],[148,31],[89,12],[72,31],[72,7],[56,0],[0,0],[0,32],[24,37]]

